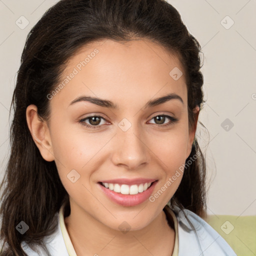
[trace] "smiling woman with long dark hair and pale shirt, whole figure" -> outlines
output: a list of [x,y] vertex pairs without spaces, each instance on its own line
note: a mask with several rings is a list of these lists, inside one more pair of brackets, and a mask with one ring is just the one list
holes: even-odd
[[201,217],[200,45],[163,0],[61,0],[12,105],[1,255],[235,255]]

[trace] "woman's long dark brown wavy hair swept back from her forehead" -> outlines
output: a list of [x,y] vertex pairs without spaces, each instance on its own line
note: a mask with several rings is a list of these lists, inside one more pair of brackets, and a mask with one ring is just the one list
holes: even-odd
[[[17,72],[11,107],[10,156],[2,190],[0,238],[1,256],[26,256],[21,242],[44,247],[42,238],[56,228],[54,218],[68,194],[54,161],[45,161],[26,123],[26,107],[35,104],[38,115],[48,120],[47,94],[56,88],[61,72],[82,46],[101,39],[129,41],[150,39],[176,54],[185,70],[189,129],[195,124],[193,108],[201,109],[203,75],[200,44],[188,32],[178,11],[164,0],[60,0],[50,7],[27,35]],[[205,159],[194,140],[191,153],[197,155],[184,169],[181,183],[170,199],[202,216],[205,212]],[[23,220],[29,229],[20,234]],[[49,254],[49,253],[48,253]]]

